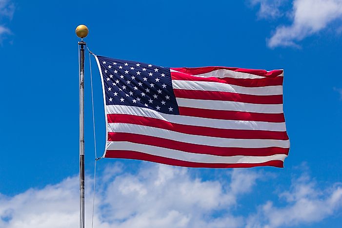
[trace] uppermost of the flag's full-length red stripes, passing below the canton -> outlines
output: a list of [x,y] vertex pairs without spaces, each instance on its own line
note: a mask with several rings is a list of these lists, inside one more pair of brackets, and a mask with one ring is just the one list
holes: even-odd
[[288,140],[286,132],[260,131],[260,130],[233,130],[219,129],[200,126],[191,126],[177,123],[170,123],[165,120],[152,117],[144,117],[129,114],[107,114],[108,123],[128,123],[142,126],[165,129],[185,134],[203,135],[220,138],[240,139],[279,139]]

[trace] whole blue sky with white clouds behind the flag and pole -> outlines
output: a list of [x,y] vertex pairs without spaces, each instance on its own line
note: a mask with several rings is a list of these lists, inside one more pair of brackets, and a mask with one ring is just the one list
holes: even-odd
[[[285,168],[97,162],[94,227],[338,228],[342,223],[342,0],[0,0],[0,227],[79,226],[75,28],[101,56],[165,67],[284,69]],[[91,58],[97,156],[105,143]],[[85,59],[86,228],[94,137]]]

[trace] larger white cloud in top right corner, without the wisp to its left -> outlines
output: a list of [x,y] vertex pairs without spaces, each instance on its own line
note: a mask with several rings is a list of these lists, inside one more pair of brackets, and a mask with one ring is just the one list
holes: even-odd
[[320,32],[335,20],[342,19],[342,0],[294,0],[289,13],[292,24],[278,26],[269,47],[298,46],[297,41]]

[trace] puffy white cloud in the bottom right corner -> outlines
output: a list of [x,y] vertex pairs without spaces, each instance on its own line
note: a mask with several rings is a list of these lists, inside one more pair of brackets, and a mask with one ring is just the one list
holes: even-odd
[[279,196],[286,206],[277,207],[271,201],[266,202],[249,217],[247,227],[277,228],[319,222],[342,208],[340,185],[321,190],[306,174],[295,179],[290,190]]

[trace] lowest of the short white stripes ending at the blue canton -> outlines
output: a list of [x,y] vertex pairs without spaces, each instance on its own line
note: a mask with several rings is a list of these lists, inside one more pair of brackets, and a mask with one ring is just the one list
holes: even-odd
[[188,98],[176,98],[180,107],[240,111],[249,113],[283,113],[282,104],[250,104],[235,101],[199,100]]

